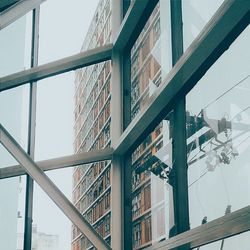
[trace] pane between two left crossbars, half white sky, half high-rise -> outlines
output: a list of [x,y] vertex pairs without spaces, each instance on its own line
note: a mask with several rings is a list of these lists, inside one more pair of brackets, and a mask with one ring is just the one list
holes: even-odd
[[39,81],[37,160],[110,146],[110,79],[107,61]]

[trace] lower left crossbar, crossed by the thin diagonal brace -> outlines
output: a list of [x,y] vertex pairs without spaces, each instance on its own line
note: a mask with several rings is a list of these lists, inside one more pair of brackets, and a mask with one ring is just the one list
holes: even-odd
[[[111,160],[113,156],[112,148],[105,148],[95,151],[83,152],[79,154],[54,158],[36,162],[36,165],[42,171],[55,170],[66,167],[73,167],[81,164]],[[26,171],[20,165],[0,168],[0,179],[15,177],[26,174]]]

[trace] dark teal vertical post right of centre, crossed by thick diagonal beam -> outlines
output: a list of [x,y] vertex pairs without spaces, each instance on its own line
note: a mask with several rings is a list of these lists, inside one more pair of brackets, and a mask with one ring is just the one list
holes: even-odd
[[[171,0],[172,64],[183,54],[181,0]],[[170,236],[189,230],[185,97],[176,100],[173,111],[173,183],[175,228]],[[171,235],[172,234],[172,235]],[[178,249],[187,250],[189,246]]]

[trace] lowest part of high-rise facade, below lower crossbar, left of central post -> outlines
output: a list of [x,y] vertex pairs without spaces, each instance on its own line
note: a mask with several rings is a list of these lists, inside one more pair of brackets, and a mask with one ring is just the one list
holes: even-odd
[[[80,165],[73,171],[73,204],[96,231],[111,241],[111,162]],[[73,249],[91,249],[91,243],[72,227]]]

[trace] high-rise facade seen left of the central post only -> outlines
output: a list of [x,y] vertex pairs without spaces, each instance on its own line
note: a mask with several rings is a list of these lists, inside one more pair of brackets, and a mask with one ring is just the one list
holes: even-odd
[[[100,1],[82,51],[110,43],[110,0]],[[77,70],[75,78],[75,153],[110,146],[111,62]],[[73,203],[110,242],[110,161],[77,166],[73,173]],[[72,250],[88,249],[89,241],[73,226]]]

